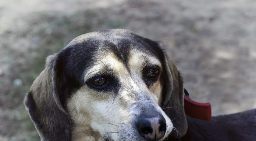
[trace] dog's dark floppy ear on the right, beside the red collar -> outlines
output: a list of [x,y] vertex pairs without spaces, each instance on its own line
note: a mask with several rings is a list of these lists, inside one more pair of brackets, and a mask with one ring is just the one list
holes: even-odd
[[188,127],[184,112],[183,80],[173,62],[166,53],[164,55],[162,107],[177,129],[171,132],[171,136],[179,138],[186,134]]

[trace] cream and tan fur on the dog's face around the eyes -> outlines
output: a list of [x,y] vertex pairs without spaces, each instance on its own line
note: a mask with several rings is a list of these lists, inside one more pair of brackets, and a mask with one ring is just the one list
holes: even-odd
[[[97,74],[98,71],[103,71],[104,66],[107,65],[113,68],[113,72],[120,78],[121,89],[115,99],[113,97],[107,97],[107,93],[99,96],[99,93],[94,92],[87,86],[79,89],[71,97],[67,107],[68,113],[71,115],[71,119],[74,120],[75,124],[75,127],[72,129],[72,141],[86,139],[93,141],[97,140],[96,137],[102,140],[104,134],[117,132],[120,123],[129,124],[129,122],[132,122],[132,117],[130,116],[136,111],[129,110],[129,107],[138,100],[136,99],[137,96],[131,93],[130,90],[146,93],[148,97],[151,97],[155,101],[157,109],[162,111],[158,106],[161,94],[160,82],[157,81],[149,90],[141,78],[141,70],[145,67],[145,64],[154,64],[161,67],[161,63],[155,57],[140,51],[132,50],[130,53],[129,68],[131,69],[131,74],[125,68],[124,64],[110,53],[102,55],[103,57],[100,57],[98,61],[94,62],[95,65],[85,72],[85,80],[87,80]],[[147,58],[146,60],[143,59],[145,56]],[[165,118],[167,123],[169,123],[168,133],[170,133],[172,124],[167,116]],[[117,133],[112,133],[111,136],[113,140],[118,140]]]

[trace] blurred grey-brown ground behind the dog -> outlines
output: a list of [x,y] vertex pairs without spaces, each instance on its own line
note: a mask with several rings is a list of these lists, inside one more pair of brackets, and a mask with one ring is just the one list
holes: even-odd
[[162,42],[213,115],[256,108],[255,0],[1,0],[0,141],[39,141],[23,99],[46,56],[110,28]]

